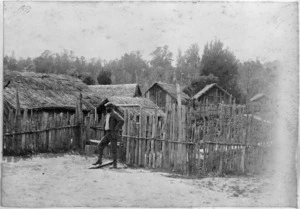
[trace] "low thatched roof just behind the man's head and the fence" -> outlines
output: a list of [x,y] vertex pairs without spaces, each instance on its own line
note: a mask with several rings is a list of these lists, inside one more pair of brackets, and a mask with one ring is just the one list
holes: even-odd
[[147,115],[154,115],[155,109],[158,109],[158,115],[164,115],[164,112],[159,109],[159,107],[154,104],[151,100],[144,97],[109,97],[104,100],[100,106],[104,106],[107,102],[112,102],[118,107],[119,110],[124,111],[125,109],[129,110],[130,113],[139,115],[140,108],[143,107],[143,112]]

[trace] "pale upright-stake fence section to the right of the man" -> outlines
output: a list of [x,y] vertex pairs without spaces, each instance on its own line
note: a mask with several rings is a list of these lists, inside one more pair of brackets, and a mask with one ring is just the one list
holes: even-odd
[[[125,111],[126,163],[184,174],[259,173],[272,164],[272,125],[242,105],[169,105],[165,117]],[[137,122],[138,121],[138,122]]]

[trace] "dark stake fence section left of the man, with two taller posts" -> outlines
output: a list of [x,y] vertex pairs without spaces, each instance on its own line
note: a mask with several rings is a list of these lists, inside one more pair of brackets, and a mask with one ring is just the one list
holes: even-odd
[[[82,95],[76,110],[57,112],[9,108],[3,119],[3,154],[59,152],[83,149],[87,131],[83,126]],[[82,121],[82,122],[81,122]]]

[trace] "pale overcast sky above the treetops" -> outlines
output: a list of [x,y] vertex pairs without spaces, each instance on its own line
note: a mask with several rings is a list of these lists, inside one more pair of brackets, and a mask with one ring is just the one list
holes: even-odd
[[36,57],[44,50],[111,60],[158,46],[177,55],[217,38],[241,61],[297,56],[296,3],[5,2],[4,54]]

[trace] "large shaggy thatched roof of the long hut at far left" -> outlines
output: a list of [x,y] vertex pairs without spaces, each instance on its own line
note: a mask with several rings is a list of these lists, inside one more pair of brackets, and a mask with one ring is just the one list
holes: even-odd
[[91,110],[103,100],[81,80],[67,75],[4,71],[4,82],[8,81],[3,95],[12,108],[16,108],[17,90],[21,109],[75,110],[80,92],[83,110]]

